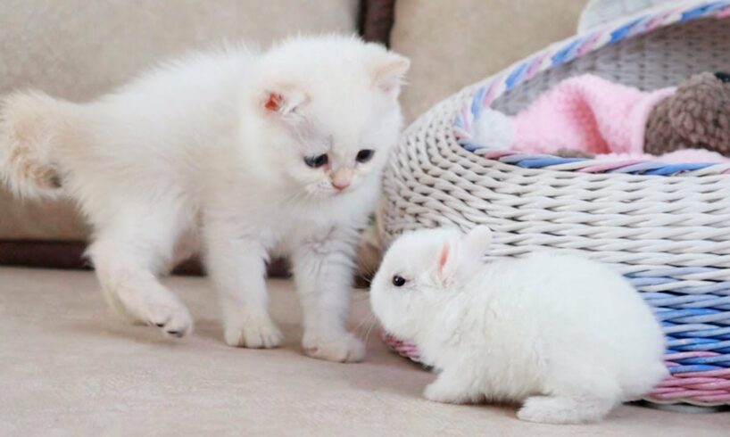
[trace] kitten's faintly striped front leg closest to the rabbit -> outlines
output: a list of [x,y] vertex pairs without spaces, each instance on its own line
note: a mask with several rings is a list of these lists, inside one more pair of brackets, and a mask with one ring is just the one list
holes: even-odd
[[365,358],[364,344],[345,328],[357,236],[353,229],[336,229],[300,243],[292,253],[303,311],[302,344],[312,358],[338,362]]

